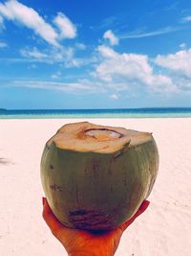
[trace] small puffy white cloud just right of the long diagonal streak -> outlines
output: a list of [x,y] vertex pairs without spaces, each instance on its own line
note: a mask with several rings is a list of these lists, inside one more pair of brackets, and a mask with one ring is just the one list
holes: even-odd
[[60,30],[60,38],[74,38],[76,36],[76,27],[73,22],[62,12],[58,12],[53,19],[54,24]]

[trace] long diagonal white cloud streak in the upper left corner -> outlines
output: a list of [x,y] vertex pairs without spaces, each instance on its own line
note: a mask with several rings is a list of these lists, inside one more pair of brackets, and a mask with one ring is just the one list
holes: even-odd
[[35,34],[40,35],[47,42],[58,46],[58,35],[53,27],[32,8],[16,0],[10,0],[4,4],[0,4],[0,14],[9,20],[17,21],[27,28],[32,29]]

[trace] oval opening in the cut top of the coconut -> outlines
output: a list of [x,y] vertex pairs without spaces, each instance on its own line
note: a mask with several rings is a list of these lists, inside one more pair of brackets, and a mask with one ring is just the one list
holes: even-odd
[[99,141],[114,140],[121,138],[123,135],[116,130],[109,128],[91,128],[85,131],[86,135],[96,138]]

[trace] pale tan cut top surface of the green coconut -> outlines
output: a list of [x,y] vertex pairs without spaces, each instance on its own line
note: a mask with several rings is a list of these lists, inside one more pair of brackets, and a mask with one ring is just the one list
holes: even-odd
[[58,129],[48,141],[61,150],[110,153],[152,140],[148,132],[98,126],[88,122],[72,123]]

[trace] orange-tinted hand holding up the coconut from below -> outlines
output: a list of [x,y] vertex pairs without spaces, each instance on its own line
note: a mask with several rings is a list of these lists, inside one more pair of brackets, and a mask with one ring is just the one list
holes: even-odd
[[46,198],[43,198],[43,218],[50,227],[53,236],[63,244],[69,255],[111,256],[117,250],[123,231],[146,210],[149,203],[148,200],[144,200],[137,213],[130,220],[119,225],[117,229],[98,234],[64,226],[53,216]]

